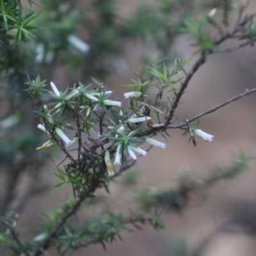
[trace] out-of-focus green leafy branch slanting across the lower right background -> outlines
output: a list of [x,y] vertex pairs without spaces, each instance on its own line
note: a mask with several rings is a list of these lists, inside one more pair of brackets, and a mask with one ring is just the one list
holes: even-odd
[[[206,177],[196,177],[191,171],[180,173],[178,188],[143,188],[136,194],[136,200],[145,211],[152,207],[163,208],[168,211],[180,212],[189,204],[191,196],[199,195],[205,199],[205,190],[218,180],[232,179],[248,169],[251,157],[243,152],[232,157],[232,164],[225,168],[216,168]],[[207,197],[206,197],[207,198]]]

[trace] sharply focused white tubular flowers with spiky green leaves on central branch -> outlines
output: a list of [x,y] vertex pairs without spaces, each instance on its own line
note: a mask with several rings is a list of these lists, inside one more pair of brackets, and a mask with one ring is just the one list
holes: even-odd
[[[97,82],[97,81],[96,81]],[[130,99],[131,104],[136,102],[136,99],[140,98],[142,101],[145,99],[145,95],[143,92],[145,88],[148,86],[148,82],[141,83],[141,81],[133,81],[134,84],[131,86],[127,86],[131,92],[124,93],[125,99]],[[61,114],[63,111],[70,110],[73,113],[78,113],[79,116],[83,114],[83,111],[86,111],[86,117],[81,118],[83,122],[80,124],[81,128],[80,132],[87,132],[88,136],[92,136],[92,134],[97,134],[94,136],[93,141],[104,140],[104,138],[108,137],[108,141],[113,143],[115,146],[115,152],[109,152],[108,150],[104,151],[104,162],[108,169],[108,175],[113,176],[115,174],[113,164],[121,165],[124,161],[127,160],[127,157],[131,157],[134,161],[137,159],[136,154],[140,154],[141,156],[147,155],[147,150],[141,148],[140,145],[143,143],[148,143],[150,145],[154,145],[160,148],[166,148],[166,144],[154,140],[150,138],[150,136],[141,136],[140,135],[140,127],[147,124],[145,127],[152,127],[153,129],[161,129],[165,124],[155,124],[152,120],[152,116],[143,115],[143,111],[127,111],[127,113],[123,113],[122,109],[120,109],[119,114],[115,111],[111,111],[113,117],[115,118],[115,122],[109,120],[114,124],[114,126],[107,126],[106,120],[104,120],[104,116],[108,112],[111,106],[116,106],[121,108],[122,102],[116,100],[109,100],[109,96],[113,93],[112,91],[108,91],[103,88],[102,84],[99,84],[98,88],[95,90],[90,90],[91,84],[84,86],[82,83],[79,83],[79,86],[74,86],[69,92],[68,89],[65,92],[60,92],[56,85],[51,82],[52,92],[49,92],[54,100],[54,107],[49,110],[47,106],[44,105],[41,111],[41,117],[44,122],[47,122],[47,129],[45,125],[38,124],[38,128],[42,131],[46,132],[50,137],[50,140],[46,141],[41,147],[36,148],[36,150],[41,150],[44,148],[52,147],[55,144],[54,136],[58,135],[61,140],[64,141],[66,147],[72,145],[72,143],[78,141],[78,138],[74,138],[74,140],[70,140],[68,136],[63,131],[63,121],[61,120]],[[147,103],[141,102],[144,106],[148,106]],[[155,111],[156,115],[165,114],[160,111],[160,109],[154,108],[151,106],[152,110]],[[76,112],[78,109],[79,112]],[[102,110],[100,110],[102,109]],[[54,113],[52,113],[54,111]],[[99,111],[97,113],[97,111]],[[97,118],[95,119],[95,116]],[[80,122],[80,121],[77,121]],[[95,124],[100,123],[100,131],[98,132],[95,129]],[[118,124],[116,124],[118,123]],[[196,125],[197,126],[197,125]],[[104,127],[108,127],[106,133],[104,133]],[[147,129],[147,128],[146,128]],[[195,138],[194,134],[202,137],[204,140],[211,142],[212,136],[211,134],[207,134],[206,132],[197,129],[197,128],[189,128],[186,130],[185,134],[189,133],[191,138],[193,139],[194,145]],[[81,136],[81,133],[80,133]],[[52,138],[53,137],[53,138]],[[81,150],[81,138],[80,138],[80,150]],[[98,148],[100,146],[97,146]],[[113,153],[115,154],[115,159],[113,164],[111,162],[111,157],[113,157]]]

